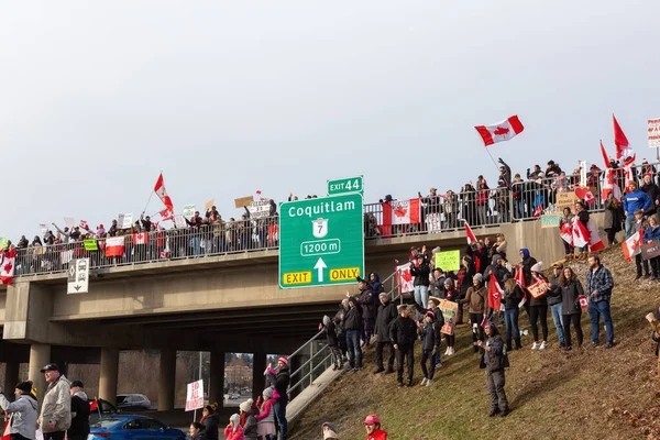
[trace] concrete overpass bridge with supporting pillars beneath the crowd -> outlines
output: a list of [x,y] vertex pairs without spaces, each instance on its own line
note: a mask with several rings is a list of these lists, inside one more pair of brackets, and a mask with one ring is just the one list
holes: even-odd
[[[593,218],[602,222],[601,215]],[[547,263],[563,257],[554,228],[517,222],[474,228],[477,238],[504,233],[509,256],[529,248]],[[400,234],[366,241],[365,271],[392,274],[411,245],[464,249],[464,231]],[[0,289],[0,362],[7,388],[19,364],[44,389],[40,369],[51,362],[100,364],[99,397],[116,399],[119,350],[161,351],[158,409],[174,405],[177,350],[211,353],[211,402],[222,402],[226,352],[254,353],[255,387],[267,353],[292,353],[314,336],[322,315],[334,314],[345,286],[279,289],[277,249],[92,264],[89,293],[67,295],[64,271],[35,271]],[[355,290],[355,287],[349,286]]]

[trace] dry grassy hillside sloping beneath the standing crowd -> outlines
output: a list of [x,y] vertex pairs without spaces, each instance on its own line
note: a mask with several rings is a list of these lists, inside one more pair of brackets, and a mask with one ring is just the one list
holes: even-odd
[[[618,248],[605,251],[602,260],[615,278],[612,309],[617,345],[592,349],[584,312],[584,348],[575,349],[573,331],[573,351],[562,352],[549,314],[550,348],[531,351],[530,331],[522,338],[524,349],[509,355],[505,389],[512,414],[507,418],[487,417],[485,372],[472,352],[470,329],[459,326],[457,354],[442,356],[431,387],[399,389],[396,374],[344,373],[307,409],[290,438],[317,439],[321,422],[328,420],[337,425],[342,439],[363,439],[362,420],[371,413],[381,416],[392,439],[660,438],[658,362],[645,319],[660,300],[660,284],[635,282],[635,264],[627,263]],[[584,283],[586,264],[571,266]],[[519,323],[528,328],[525,312]],[[601,342],[605,342],[604,328]],[[444,352],[444,341],[442,345]],[[422,377],[418,360],[416,351],[416,384]],[[373,349],[365,365],[371,371]]]

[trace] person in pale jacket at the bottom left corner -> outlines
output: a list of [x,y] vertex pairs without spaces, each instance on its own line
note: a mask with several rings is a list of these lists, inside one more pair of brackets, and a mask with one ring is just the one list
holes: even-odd
[[11,440],[34,440],[36,427],[36,398],[32,382],[21,382],[14,389],[14,402],[9,402],[0,391],[0,408],[11,416]]

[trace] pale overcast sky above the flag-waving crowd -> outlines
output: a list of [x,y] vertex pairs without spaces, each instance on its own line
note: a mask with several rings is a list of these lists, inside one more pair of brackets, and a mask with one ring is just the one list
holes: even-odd
[[[458,190],[496,169],[638,157],[660,117],[660,1],[11,1],[0,7],[0,235],[215,198]],[[147,212],[162,208],[154,197]]]

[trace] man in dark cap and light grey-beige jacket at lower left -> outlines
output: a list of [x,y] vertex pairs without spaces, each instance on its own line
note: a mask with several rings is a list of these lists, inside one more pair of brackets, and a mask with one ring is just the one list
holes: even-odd
[[48,387],[42,402],[38,425],[44,440],[63,440],[72,426],[70,382],[61,374],[57,364],[47,364],[42,369]]

